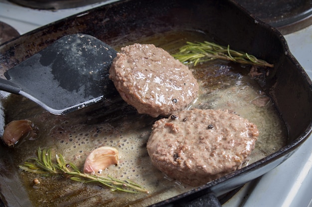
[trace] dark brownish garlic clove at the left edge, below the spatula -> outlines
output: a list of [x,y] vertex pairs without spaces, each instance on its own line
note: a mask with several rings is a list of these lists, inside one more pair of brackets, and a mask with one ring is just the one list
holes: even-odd
[[31,137],[36,135],[32,122],[30,120],[15,120],[5,125],[2,140],[7,146],[14,146],[21,138],[28,135]]

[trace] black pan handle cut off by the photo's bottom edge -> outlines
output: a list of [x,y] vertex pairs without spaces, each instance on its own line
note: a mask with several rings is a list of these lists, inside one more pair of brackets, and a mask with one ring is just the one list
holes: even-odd
[[187,201],[180,207],[222,207],[218,198],[213,192],[209,192],[193,200]]

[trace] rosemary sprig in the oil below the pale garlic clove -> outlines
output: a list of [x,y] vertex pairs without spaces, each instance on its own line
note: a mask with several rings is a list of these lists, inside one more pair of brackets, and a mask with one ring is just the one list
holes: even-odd
[[129,180],[118,180],[108,175],[107,178],[95,175],[81,173],[79,169],[71,162],[67,163],[63,155],[56,155],[56,163],[52,163],[51,149],[37,149],[38,158],[30,158],[19,165],[19,168],[43,176],[51,175],[66,175],[73,181],[82,183],[97,183],[102,186],[111,188],[112,191],[123,191],[127,193],[149,193],[149,191],[142,186],[133,183]]

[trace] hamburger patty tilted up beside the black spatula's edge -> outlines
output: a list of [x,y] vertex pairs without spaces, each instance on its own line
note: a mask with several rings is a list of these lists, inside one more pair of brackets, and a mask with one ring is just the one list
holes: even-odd
[[152,117],[184,109],[198,92],[188,67],[152,44],[122,48],[109,73],[121,97]]

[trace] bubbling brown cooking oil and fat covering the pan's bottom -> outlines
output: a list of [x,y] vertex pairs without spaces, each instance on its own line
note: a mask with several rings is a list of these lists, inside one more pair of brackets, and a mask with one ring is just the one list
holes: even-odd
[[[208,37],[198,32],[168,32],[138,41],[155,44],[169,53],[186,41],[204,41]],[[132,43],[129,43],[132,44]],[[120,46],[121,47],[121,46]],[[257,82],[248,75],[250,67],[214,61],[190,67],[200,90],[189,106],[200,109],[228,109],[257,125],[260,136],[250,163],[286,144],[286,130],[278,112]],[[20,179],[35,207],[57,206],[149,206],[193,189],[178,183],[158,171],[146,150],[153,123],[159,118],[141,115],[120,97],[112,104],[95,104],[65,116],[49,114],[29,100],[11,95],[5,105],[6,121],[29,119],[39,129],[35,139],[25,139],[14,148],[14,164],[35,157],[38,147],[51,148],[52,154],[62,154],[82,170],[88,154],[100,146],[119,150],[120,164],[102,172],[117,179],[128,179],[150,191],[146,194],[112,192],[97,185],[71,181],[64,177],[40,177],[21,172]],[[12,155],[10,155],[12,156]],[[39,179],[35,187],[32,180]]]

